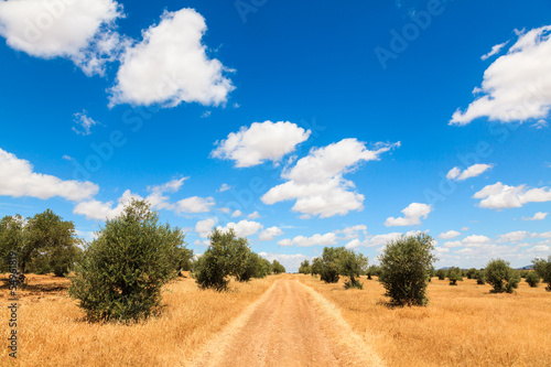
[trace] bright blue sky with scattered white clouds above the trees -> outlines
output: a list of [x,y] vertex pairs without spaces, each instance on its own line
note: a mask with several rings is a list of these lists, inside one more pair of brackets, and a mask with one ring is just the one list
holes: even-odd
[[0,2],[0,215],[93,238],[132,196],[296,270],[551,253],[547,1]]

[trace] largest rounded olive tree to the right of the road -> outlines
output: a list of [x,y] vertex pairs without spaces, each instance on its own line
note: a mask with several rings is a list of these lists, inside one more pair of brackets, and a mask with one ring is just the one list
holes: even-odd
[[428,277],[436,258],[432,237],[421,234],[401,237],[380,255],[379,281],[397,305],[426,305]]

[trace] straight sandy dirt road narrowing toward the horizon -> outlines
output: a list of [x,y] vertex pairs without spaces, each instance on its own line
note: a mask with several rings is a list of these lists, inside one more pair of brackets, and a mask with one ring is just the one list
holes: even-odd
[[381,366],[338,310],[281,279],[213,341],[193,366]]

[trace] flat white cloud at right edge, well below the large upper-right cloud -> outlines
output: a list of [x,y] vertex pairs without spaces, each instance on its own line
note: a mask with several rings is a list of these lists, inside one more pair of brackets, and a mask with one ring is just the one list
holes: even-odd
[[498,182],[477,192],[474,198],[482,198],[478,206],[489,209],[521,207],[528,203],[551,202],[548,187],[528,188],[526,185],[508,186]]

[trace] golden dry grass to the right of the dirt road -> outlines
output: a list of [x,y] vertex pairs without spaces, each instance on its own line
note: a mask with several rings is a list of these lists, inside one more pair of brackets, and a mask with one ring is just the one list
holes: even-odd
[[451,287],[434,278],[428,307],[390,309],[376,280],[345,291],[343,281],[298,279],[336,304],[388,366],[551,366],[551,293],[542,284],[491,294],[475,280]]

